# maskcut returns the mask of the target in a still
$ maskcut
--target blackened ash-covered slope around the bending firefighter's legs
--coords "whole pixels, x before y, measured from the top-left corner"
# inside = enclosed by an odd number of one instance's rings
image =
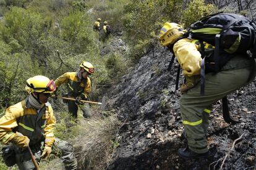
[[[228,96],[231,115],[241,123],[225,123],[221,103],[216,103],[208,131],[211,155],[207,159],[183,160],[177,155],[177,149],[185,147],[178,101],[181,94],[175,91],[177,63],[169,72],[170,60],[171,53],[155,47],[108,94],[109,107],[117,109],[124,123],[116,137],[120,145],[108,169],[219,169],[234,140],[243,133],[224,168],[254,169],[255,81]]]

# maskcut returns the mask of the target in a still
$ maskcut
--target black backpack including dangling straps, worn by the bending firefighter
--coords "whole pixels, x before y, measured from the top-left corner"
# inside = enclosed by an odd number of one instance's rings
[[[179,39],[182,38],[193,38],[200,42],[199,51],[203,59],[200,73],[202,86],[205,72],[220,71],[234,57],[233,54],[249,55],[256,59],[256,24],[242,15],[222,12],[208,15],[190,25],[187,32]],[[215,50],[210,54],[205,52],[203,42],[215,46]],[[171,69],[171,62],[168,70]],[[201,88],[201,94],[204,93],[203,89],[204,87]]]

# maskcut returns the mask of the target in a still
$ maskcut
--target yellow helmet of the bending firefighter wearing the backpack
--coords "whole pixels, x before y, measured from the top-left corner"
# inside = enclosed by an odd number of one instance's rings
[[[185,32],[186,30],[181,25],[174,22],[166,22],[161,28],[159,40],[163,46],[168,46],[169,44],[174,44]]]

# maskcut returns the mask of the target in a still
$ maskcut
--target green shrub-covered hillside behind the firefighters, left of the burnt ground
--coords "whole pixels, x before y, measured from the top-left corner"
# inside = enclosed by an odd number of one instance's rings
[[[91,99],[101,99],[127,68],[160,47],[158,33],[164,22],[187,28],[215,12],[217,7],[203,0],[0,0],[0,109],[24,99],[26,79],[56,79],[79,70],[83,60],[96,67]],[[92,28],[99,17],[113,29],[106,42]],[[117,35],[125,40],[128,52],[111,46]],[[103,49],[110,52],[102,55]],[[61,122],[57,127],[56,134],[61,134]]]

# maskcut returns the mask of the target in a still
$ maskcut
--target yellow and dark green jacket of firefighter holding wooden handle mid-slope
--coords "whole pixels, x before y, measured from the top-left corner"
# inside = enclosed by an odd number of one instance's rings
[[[70,97],[77,97],[83,95],[88,98],[91,92],[91,80],[87,77],[84,81],[80,81],[77,72],[67,72],[59,76],[55,81],[56,87],[61,86],[62,83],[67,83],[68,95]]]

